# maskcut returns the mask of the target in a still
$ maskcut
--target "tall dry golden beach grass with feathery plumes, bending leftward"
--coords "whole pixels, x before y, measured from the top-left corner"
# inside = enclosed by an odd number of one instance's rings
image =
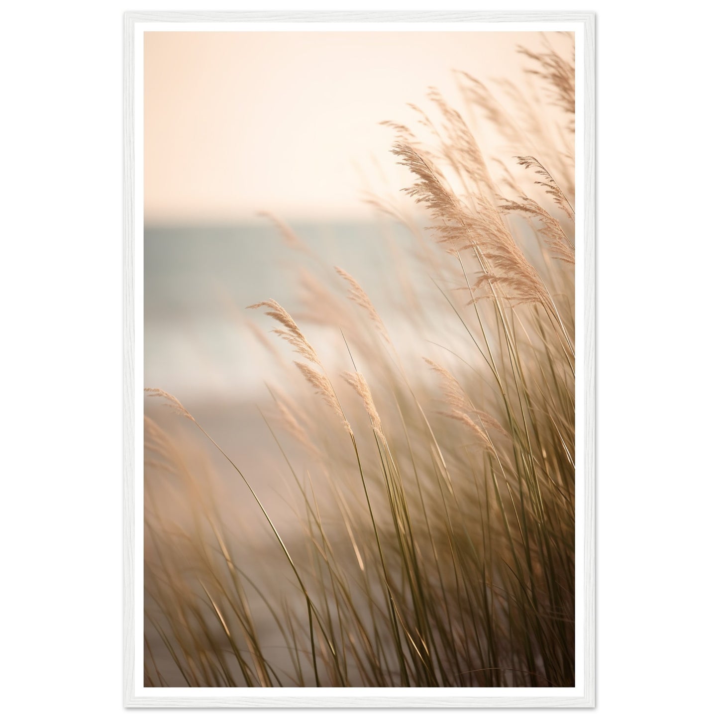
[[[306,360],[271,390],[267,420],[292,521],[275,523],[255,478],[216,447],[271,545],[227,522],[211,471],[198,480],[203,452],[147,422],[147,684],[574,685],[574,72],[549,47],[523,52],[536,93],[504,85],[500,101],[458,74],[508,145],[501,157],[436,90],[436,120],[416,108],[416,129],[388,123],[427,216],[426,232],[408,225],[433,284],[398,281],[424,352],[395,344],[339,268],[341,283],[331,268],[304,278],[306,306],[292,310],[306,328],[273,300],[252,306]],[[562,132],[539,121],[545,86]],[[308,339],[323,324],[344,371]],[[148,395],[206,435],[172,395]]]

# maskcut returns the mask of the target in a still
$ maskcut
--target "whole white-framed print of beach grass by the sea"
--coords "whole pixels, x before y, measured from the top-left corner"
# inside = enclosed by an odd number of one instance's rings
[[[593,706],[593,15],[125,52],[126,705]]]

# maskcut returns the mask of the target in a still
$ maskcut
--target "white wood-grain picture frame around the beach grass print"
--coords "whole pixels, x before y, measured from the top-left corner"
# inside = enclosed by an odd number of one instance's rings
[[[134,367],[134,258],[137,203],[135,197],[134,48],[138,23],[152,22],[532,22],[573,23],[583,27],[584,41],[584,248],[585,248],[585,485],[584,485],[584,576],[582,587],[585,623],[584,692],[581,696],[468,696],[447,689],[428,696],[396,695],[372,689],[356,689],[352,696],[320,694],[319,690],[286,690],[287,694],[193,696],[177,690],[173,696],[139,696],[135,687],[135,367]],[[595,20],[590,12],[127,12],[124,16],[124,705],[126,707],[593,707],[595,705]],[[577,137],[577,143],[580,138]],[[579,513],[582,508],[577,508]],[[237,690],[239,692],[239,690]]]

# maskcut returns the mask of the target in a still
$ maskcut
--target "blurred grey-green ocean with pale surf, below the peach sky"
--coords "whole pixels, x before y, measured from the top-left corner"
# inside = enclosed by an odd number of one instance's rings
[[[420,272],[413,259],[417,240],[405,226],[304,223],[292,229],[307,251],[289,247],[270,221],[145,228],[145,386],[183,401],[265,397],[267,351],[246,319],[267,333],[275,325],[262,311],[245,308],[273,298],[299,313],[301,268],[329,282],[336,280],[333,267],[342,267],[370,295],[385,324],[396,324],[398,278]],[[322,344],[319,334],[313,341]]]

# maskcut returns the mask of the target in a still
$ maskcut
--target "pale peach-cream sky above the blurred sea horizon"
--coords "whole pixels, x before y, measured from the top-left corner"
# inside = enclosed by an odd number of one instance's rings
[[[520,78],[518,32],[145,33],[145,221],[367,214],[362,188],[406,185],[382,120],[409,122],[452,69]]]

